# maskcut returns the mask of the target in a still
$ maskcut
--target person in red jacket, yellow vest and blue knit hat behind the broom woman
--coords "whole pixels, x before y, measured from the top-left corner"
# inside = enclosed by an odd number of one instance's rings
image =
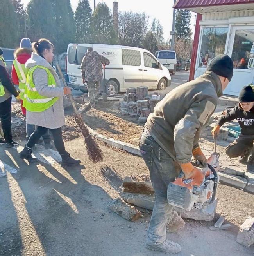
[[[23,100],[24,100],[24,94],[25,94],[25,84],[27,81],[27,73],[28,69],[25,67],[25,63],[27,60],[31,58],[32,54],[32,44],[29,38],[22,38],[20,41],[20,47],[16,49],[14,52],[14,58],[13,60],[13,67],[11,70],[11,78],[14,84],[18,85],[19,91],[20,91],[20,98],[21,98],[21,110],[22,114],[26,115],[25,107],[23,107]],[[26,138],[29,139],[31,134],[34,132],[34,125],[32,124],[26,124],[26,132],[27,136]],[[47,131],[43,136],[43,142],[45,144],[46,149],[50,149],[52,147],[50,143],[50,134]],[[40,139],[38,143],[41,143],[42,140]]]

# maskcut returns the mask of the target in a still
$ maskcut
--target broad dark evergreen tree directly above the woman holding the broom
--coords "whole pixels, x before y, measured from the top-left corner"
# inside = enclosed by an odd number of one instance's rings
[[[31,42],[47,38],[55,45],[57,27],[53,0],[31,0],[27,5],[27,15],[27,35]]]

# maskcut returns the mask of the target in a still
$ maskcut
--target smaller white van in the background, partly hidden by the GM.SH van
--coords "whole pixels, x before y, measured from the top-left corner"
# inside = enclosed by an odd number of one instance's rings
[[[164,51],[157,51],[155,53],[156,58],[159,62],[166,67],[170,73],[173,75],[176,71],[176,54],[175,51],[164,50]]]

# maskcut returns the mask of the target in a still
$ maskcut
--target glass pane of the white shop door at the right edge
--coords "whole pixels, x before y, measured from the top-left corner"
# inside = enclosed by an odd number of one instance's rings
[[[254,42],[254,30],[236,30],[232,60],[235,69],[248,69],[250,50]]]

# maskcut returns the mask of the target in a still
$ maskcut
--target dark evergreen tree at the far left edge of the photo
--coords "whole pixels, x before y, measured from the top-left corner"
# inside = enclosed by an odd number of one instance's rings
[[[16,48],[19,31],[18,18],[11,0],[1,0],[0,7],[0,45],[1,47]]]

